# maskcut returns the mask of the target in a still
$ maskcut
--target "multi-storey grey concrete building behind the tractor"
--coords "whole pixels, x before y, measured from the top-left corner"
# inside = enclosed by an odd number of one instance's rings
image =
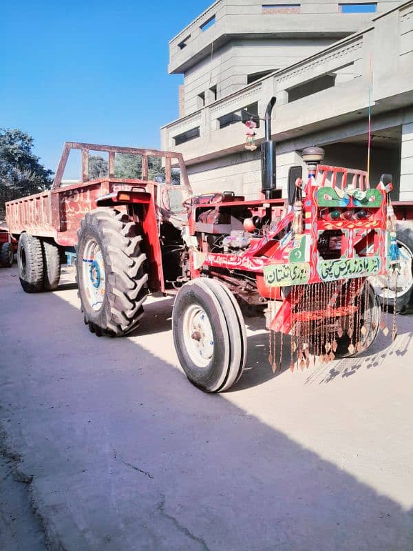
[[[392,172],[394,198],[413,200],[413,1],[218,0],[169,48],[184,84],[162,147],[183,154],[196,192],[257,194],[260,151],[246,151],[243,121],[260,123],[276,96],[278,187],[308,145],[326,164],[366,167],[370,102],[370,181]]]

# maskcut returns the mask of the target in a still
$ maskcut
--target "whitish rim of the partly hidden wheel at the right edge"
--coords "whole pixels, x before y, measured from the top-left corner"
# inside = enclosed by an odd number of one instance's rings
[[[412,253],[401,241],[397,241],[397,245],[399,246],[400,253],[400,272],[390,274],[390,278],[386,275],[374,275],[370,279],[374,291],[376,291],[377,295],[379,295],[382,300],[394,299],[396,293],[397,296],[401,297],[405,295],[413,285]]]

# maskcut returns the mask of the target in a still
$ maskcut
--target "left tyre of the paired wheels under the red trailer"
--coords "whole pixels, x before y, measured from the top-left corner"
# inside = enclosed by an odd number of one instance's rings
[[[43,254],[40,239],[21,233],[17,248],[21,287],[26,293],[43,291]]]

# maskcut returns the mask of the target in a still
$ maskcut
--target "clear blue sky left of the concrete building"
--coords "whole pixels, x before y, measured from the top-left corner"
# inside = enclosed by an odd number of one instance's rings
[[[31,134],[52,170],[65,141],[159,147],[182,83],[168,42],[211,3],[4,1],[0,127]]]

